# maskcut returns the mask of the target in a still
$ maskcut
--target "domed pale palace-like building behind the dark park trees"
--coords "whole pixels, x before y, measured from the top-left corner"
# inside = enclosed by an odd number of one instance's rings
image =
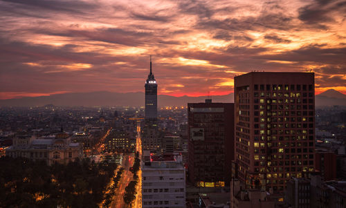
[[[67,164],[76,158],[83,158],[82,145],[72,143],[66,133],[59,133],[54,139],[37,139],[35,136],[17,136],[13,145],[6,149],[6,156],[44,160],[48,165]]]

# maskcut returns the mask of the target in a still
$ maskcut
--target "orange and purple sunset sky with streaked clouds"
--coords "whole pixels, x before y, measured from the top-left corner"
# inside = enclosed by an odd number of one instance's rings
[[[315,72],[346,93],[346,1],[0,0],[0,99],[226,95],[253,70]]]

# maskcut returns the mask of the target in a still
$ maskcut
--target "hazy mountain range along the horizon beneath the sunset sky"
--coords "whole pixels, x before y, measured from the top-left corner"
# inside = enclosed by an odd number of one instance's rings
[[[39,97],[21,97],[0,100],[0,106],[144,106],[144,93],[112,93],[107,91],[91,93],[64,93]],[[188,102],[204,102],[206,96],[174,97],[158,95],[158,106],[186,106]],[[233,93],[210,96],[212,102],[233,102]],[[346,95],[333,89],[316,95],[316,106],[346,106]]]

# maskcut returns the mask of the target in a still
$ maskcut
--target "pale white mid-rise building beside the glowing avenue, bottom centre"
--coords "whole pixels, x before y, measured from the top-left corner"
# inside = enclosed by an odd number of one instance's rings
[[[181,155],[143,153],[142,207],[185,207],[185,169]]]

